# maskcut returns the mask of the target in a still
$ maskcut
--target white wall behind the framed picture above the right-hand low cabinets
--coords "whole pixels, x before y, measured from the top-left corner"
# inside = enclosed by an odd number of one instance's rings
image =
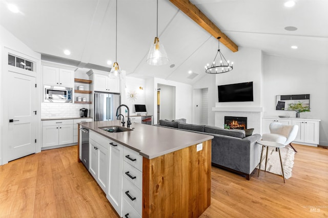
[[[311,112],[301,118],[321,119],[319,144],[328,146],[328,64],[270,55],[263,63],[263,115],[295,117],[295,111],[275,110],[276,95],[310,94]]]

